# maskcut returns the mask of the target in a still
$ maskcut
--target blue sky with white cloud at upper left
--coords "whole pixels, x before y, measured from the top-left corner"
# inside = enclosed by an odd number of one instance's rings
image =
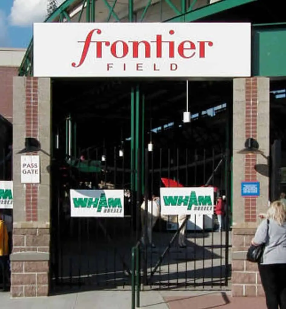
[[[46,8],[47,0],[0,0],[0,48],[28,47],[33,22],[45,19]]]

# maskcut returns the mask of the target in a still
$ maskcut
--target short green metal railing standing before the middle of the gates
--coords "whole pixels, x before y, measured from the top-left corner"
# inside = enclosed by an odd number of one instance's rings
[[[140,241],[132,248],[131,254],[131,309],[140,307]],[[135,307],[136,303],[136,307]]]

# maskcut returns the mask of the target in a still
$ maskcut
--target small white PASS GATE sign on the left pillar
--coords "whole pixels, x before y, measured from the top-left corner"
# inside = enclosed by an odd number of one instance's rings
[[[22,155],[21,156],[21,183],[39,184],[40,183],[40,156]]]

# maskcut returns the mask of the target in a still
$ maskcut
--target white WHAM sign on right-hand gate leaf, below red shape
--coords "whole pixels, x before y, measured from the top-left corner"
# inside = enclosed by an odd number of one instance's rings
[[[213,214],[213,188],[160,188],[164,215]]]

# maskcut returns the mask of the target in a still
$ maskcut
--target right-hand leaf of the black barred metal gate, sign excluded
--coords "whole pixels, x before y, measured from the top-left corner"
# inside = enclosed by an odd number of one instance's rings
[[[163,186],[161,179],[167,178],[184,187],[213,186],[215,197],[225,195],[227,202],[230,200],[228,151],[216,148],[146,150],[145,173],[145,199],[158,196]],[[159,289],[227,286],[231,211],[229,204],[226,205],[220,231],[216,215],[195,216],[192,222],[183,216],[168,216],[163,220],[162,216],[151,215],[155,222],[151,223],[154,228],[148,244],[146,225],[143,228],[146,239],[142,246],[143,283]],[[147,213],[145,207],[146,220]]]

